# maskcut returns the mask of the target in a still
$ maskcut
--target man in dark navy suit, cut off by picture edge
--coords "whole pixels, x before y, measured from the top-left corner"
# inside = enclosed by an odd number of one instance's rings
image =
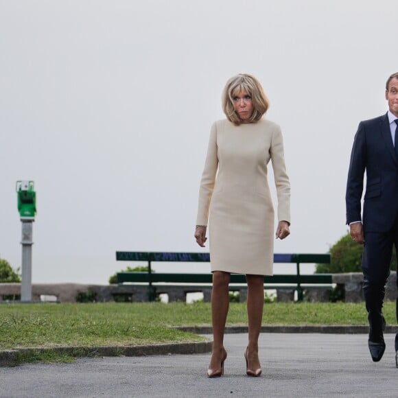
[[[393,246],[398,250],[398,73],[390,75],[386,82],[386,100],[386,115],[361,121],[358,126],[346,192],[351,237],[364,245],[362,286],[369,321],[368,347],[375,362],[382,359],[386,349],[382,307]],[[361,217],[365,170],[366,191]],[[398,367],[398,333],[395,353]]]

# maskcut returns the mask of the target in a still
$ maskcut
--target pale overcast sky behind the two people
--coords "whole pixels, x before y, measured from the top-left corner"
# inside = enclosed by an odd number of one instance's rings
[[[37,191],[33,282],[107,283],[128,265],[116,250],[203,250],[193,235],[210,127],[242,72],[263,84],[285,139],[292,226],[275,252],[327,252],[347,232],[356,128],[386,112],[398,71],[396,7],[0,0],[0,257],[21,265],[21,179]]]

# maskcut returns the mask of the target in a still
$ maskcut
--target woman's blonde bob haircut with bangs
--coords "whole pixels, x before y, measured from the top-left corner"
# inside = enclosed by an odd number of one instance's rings
[[[235,126],[239,126],[242,123],[233,108],[233,97],[240,91],[246,91],[250,95],[254,110],[248,122],[256,123],[266,113],[270,103],[260,82],[253,75],[239,73],[239,75],[233,76],[226,82],[222,92],[222,110],[224,110],[226,118]]]

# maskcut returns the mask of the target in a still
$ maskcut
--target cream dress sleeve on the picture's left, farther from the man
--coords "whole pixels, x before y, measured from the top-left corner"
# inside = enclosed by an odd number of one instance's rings
[[[206,161],[200,181],[198,216],[196,225],[207,225],[209,220],[209,207],[211,195],[215,185],[215,175],[218,169],[217,154],[217,128],[215,123],[211,126],[209,147],[207,148]]]

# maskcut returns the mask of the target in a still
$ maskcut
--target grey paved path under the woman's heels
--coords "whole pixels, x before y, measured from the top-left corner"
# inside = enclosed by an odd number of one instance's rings
[[[209,354],[80,359],[0,368],[0,397],[398,397],[394,335],[379,363],[364,334],[263,333],[261,377],[247,377],[246,334],[225,338],[225,375]]]

